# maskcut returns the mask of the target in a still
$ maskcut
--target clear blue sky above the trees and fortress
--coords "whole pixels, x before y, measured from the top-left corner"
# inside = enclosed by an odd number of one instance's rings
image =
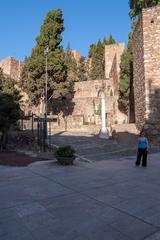
[[[110,33],[117,42],[127,43],[128,0],[5,0],[0,8],[0,59],[29,56],[46,13],[57,8],[63,11],[65,48],[70,43],[87,56],[89,45]]]

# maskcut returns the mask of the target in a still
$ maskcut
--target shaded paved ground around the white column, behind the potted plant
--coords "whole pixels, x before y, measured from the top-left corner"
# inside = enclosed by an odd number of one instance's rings
[[[112,139],[100,139],[97,135],[74,132],[58,132],[52,136],[50,141],[53,146],[73,146],[79,159],[87,162],[118,160],[137,154],[137,135],[126,132],[121,133],[117,142]],[[157,150],[159,151],[156,144],[152,144],[150,152],[155,153]]]

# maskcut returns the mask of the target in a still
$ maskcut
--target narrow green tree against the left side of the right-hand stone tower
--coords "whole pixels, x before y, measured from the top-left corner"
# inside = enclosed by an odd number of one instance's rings
[[[133,82],[133,53],[132,33],[129,33],[128,46],[121,56],[120,82],[119,82],[119,109],[128,114],[130,99],[130,84]]]

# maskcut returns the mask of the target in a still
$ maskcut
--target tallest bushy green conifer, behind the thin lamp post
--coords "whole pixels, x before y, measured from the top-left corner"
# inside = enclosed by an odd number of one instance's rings
[[[49,11],[36,38],[31,56],[25,59],[20,86],[32,103],[38,104],[44,96],[45,50],[48,52],[48,99],[63,96],[68,89],[65,53],[60,45],[64,30],[62,11]]]

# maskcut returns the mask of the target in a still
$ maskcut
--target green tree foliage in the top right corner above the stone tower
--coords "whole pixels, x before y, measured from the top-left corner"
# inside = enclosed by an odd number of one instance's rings
[[[158,4],[160,4],[160,0],[129,0],[130,17],[135,19],[143,8],[154,7]]]

